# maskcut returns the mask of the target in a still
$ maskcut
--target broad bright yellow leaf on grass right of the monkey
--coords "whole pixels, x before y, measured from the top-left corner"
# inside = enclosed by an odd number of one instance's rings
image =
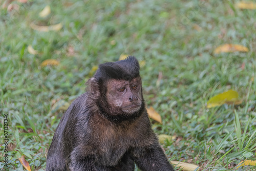
[[[210,98],[207,102],[207,108],[214,108],[222,104],[241,104],[242,100],[238,98],[238,92],[229,90]]]

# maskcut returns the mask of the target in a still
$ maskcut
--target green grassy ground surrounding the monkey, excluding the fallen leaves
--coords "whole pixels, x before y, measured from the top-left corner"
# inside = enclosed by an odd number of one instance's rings
[[[201,170],[234,170],[243,159],[255,159],[256,79],[251,78],[256,73],[256,10],[239,10],[236,2],[38,0],[12,2],[18,9],[11,11],[2,4],[1,139],[2,114],[8,114],[9,124],[5,169],[23,170],[17,157],[25,155],[32,170],[44,170],[64,112],[52,105],[82,94],[91,69],[122,53],[145,60],[144,97],[163,119],[163,124],[152,121],[153,129],[177,136],[163,144],[169,160],[197,164]],[[41,18],[38,13],[46,5],[52,12]],[[30,27],[60,22],[59,31]],[[214,49],[222,44],[240,44],[249,52],[216,55]],[[40,53],[28,53],[29,45]],[[49,58],[60,64],[41,67]],[[206,108],[210,97],[229,89],[238,91],[242,104]]]

